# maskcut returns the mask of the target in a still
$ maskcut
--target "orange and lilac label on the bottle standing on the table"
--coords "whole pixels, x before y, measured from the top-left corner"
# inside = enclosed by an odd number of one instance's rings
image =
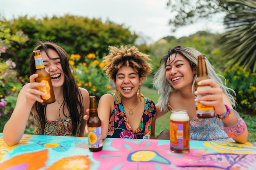
[[[100,127],[88,127],[88,145],[89,148],[100,148],[103,146],[101,126]]]

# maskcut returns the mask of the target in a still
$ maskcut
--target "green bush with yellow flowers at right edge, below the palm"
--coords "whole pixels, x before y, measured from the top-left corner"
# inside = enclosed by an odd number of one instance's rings
[[[239,63],[224,70],[227,86],[236,92],[236,102],[245,113],[256,113],[256,73],[244,69]]]

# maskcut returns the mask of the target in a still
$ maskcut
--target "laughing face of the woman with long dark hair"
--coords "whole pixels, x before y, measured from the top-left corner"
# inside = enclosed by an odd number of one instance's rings
[[[64,83],[64,74],[61,67],[61,58],[56,51],[52,49],[48,49],[47,51],[51,59],[49,59],[45,51],[41,51],[41,56],[45,64],[45,69],[49,72],[51,76],[52,86],[61,87]]]

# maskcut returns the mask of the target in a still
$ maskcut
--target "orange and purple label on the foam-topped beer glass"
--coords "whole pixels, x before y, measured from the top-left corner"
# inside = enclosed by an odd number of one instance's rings
[[[183,124],[170,123],[170,145],[174,148],[184,148]]]

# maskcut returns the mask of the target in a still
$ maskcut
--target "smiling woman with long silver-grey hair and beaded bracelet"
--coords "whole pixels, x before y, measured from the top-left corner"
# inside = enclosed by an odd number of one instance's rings
[[[176,46],[161,59],[159,69],[154,76],[154,86],[160,95],[156,105],[155,119],[172,109],[184,109],[190,118],[191,140],[245,143],[248,137],[247,127],[243,119],[233,109],[236,102],[230,94],[230,92],[234,94],[235,92],[223,85],[221,76],[216,74],[207,59],[207,72],[210,79],[199,83],[211,87],[194,91],[198,55],[201,53],[195,48]],[[223,76],[222,78],[225,80]],[[197,98],[196,96],[200,94],[210,95]],[[196,117],[195,102],[213,106],[216,117],[207,119]],[[155,129],[155,119],[152,123],[153,130]],[[169,139],[169,130],[160,133],[157,139]]]

